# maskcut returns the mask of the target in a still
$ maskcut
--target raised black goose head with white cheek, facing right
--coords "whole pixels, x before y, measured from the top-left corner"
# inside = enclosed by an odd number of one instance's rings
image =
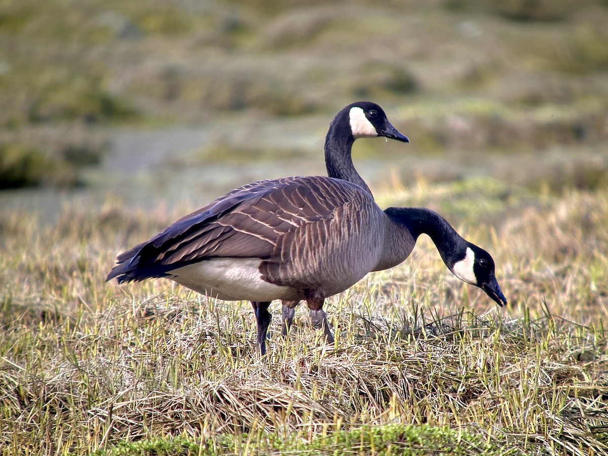
[[[389,122],[384,110],[371,102],[352,103],[344,108],[348,112],[351,134],[354,139],[384,136],[402,142],[410,142],[409,138]]]

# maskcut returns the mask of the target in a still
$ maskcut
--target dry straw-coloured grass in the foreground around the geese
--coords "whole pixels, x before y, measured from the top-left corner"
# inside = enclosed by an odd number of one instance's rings
[[[247,303],[103,283],[118,250],[177,215],[2,213],[2,456],[608,454],[605,190],[545,195],[499,231],[464,230],[494,255],[505,310],[421,240],[329,300],[336,345],[302,311],[283,340],[275,307],[266,359]],[[124,441],[139,446],[110,451]]]

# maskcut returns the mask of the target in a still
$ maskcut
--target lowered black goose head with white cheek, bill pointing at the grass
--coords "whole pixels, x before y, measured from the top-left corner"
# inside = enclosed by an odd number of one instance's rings
[[[460,280],[485,291],[499,306],[506,305],[505,295],[502,294],[496,275],[494,275],[494,260],[481,247],[466,243],[463,255],[460,255],[460,258],[451,267],[449,265],[448,267]]]

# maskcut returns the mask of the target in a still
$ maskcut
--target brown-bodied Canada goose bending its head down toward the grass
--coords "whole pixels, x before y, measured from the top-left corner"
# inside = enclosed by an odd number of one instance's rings
[[[272,300],[305,299],[313,325],[333,340],[325,297],[401,263],[423,233],[458,278],[506,304],[492,257],[443,217],[421,208],[382,211],[359,185],[325,176],[238,188],[120,254],[106,281],[168,277],[218,299],[249,300],[264,354]]]

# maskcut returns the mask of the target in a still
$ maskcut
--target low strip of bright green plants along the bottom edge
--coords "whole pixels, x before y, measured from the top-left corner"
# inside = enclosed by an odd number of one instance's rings
[[[434,446],[429,448],[428,443]],[[276,435],[223,435],[218,438],[159,438],[119,444],[109,451],[98,451],[98,456],[128,455],[222,455],[222,454],[286,454],[286,455],[485,455],[519,454],[516,448],[505,446],[505,441],[488,441],[483,434],[440,426],[409,426],[388,424],[363,426],[353,430],[327,429],[311,437],[303,431],[281,438]]]

